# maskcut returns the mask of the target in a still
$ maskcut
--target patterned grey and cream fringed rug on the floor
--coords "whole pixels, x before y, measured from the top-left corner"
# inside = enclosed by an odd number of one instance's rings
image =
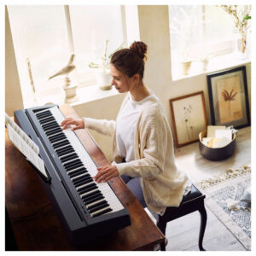
[[[244,201],[251,186],[250,166],[241,166],[195,183],[207,195],[206,205],[213,214],[251,250],[251,204]]]

